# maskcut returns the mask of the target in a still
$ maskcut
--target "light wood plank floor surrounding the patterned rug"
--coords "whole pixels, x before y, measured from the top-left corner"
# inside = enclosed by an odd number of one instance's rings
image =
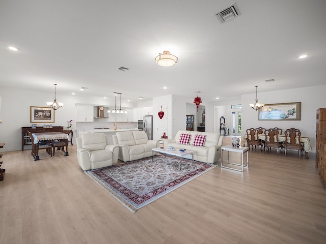
[[[69,157],[4,154],[0,243],[326,243],[315,159],[250,150],[249,169],[215,167],[130,212]],[[221,162],[218,162],[220,165]]]

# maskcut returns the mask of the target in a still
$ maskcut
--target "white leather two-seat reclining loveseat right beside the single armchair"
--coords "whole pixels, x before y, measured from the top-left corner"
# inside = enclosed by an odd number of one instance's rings
[[[158,140],[148,140],[145,131],[121,131],[112,136],[119,147],[118,158],[123,162],[152,156],[152,148],[159,147]]]

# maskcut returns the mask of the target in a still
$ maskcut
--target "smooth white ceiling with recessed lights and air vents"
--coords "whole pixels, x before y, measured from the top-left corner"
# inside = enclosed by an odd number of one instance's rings
[[[0,86],[209,102],[326,83],[326,1],[236,0],[241,15],[221,24],[215,14],[234,3],[2,0]],[[164,50],[176,65],[155,63]]]

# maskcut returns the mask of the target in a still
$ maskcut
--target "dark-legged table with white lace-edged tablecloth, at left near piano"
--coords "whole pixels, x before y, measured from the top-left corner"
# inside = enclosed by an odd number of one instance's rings
[[[68,142],[70,141],[70,136],[63,132],[38,132],[33,133],[34,136],[34,144],[35,144],[35,157],[34,160],[40,160],[39,158],[39,142],[40,141],[64,141],[66,151],[64,153],[64,156],[69,156],[68,154]]]

